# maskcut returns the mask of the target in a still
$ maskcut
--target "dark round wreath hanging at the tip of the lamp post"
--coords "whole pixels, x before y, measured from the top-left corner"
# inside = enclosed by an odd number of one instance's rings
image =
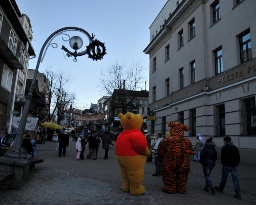
[[[93,60],[101,60],[103,56],[106,54],[105,43],[101,43],[99,40],[95,39],[92,41],[89,46],[87,46],[87,54],[89,58]]]

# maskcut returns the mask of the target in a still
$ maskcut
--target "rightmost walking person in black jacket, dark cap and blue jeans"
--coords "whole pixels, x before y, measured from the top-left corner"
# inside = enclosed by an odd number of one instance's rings
[[[225,136],[223,141],[225,145],[221,149],[221,163],[223,165],[222,178],[219,187],[215,187],[215,189],[218,192],[223,192],[226,185],[227,176],[230,172],[233,180],[234,191],[236,192],[234,197],[241,199],[240,185],[237,176],[238,165],[240,163],[239,150],[233,145],[233,142],[231,142],[231,138],[229,136]]]

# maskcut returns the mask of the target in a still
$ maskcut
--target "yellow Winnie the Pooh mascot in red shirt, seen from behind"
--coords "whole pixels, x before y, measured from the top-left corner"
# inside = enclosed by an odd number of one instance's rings
[[[122,190],[134,195],[145,193],[141,186],[144,175],[144,166],[147,155],[150,155],[145,136],[140,131],[143,118],[127,112],[119,114],[122,133],[118,136],[115,146],[115,154],[123,178]]]

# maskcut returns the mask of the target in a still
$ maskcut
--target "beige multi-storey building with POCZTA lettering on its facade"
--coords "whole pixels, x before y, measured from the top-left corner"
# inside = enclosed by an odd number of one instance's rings
[[[169,0],[150,26],[148,134],[168,121],[190,127],[184,136],[223,137],[241,163],[256,165],[256,1]]]

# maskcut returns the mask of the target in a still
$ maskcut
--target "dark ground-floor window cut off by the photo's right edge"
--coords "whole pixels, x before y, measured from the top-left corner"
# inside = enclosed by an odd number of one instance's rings
[[[256,134],[256,106],[255,97],[240,101],[241,135]]]

